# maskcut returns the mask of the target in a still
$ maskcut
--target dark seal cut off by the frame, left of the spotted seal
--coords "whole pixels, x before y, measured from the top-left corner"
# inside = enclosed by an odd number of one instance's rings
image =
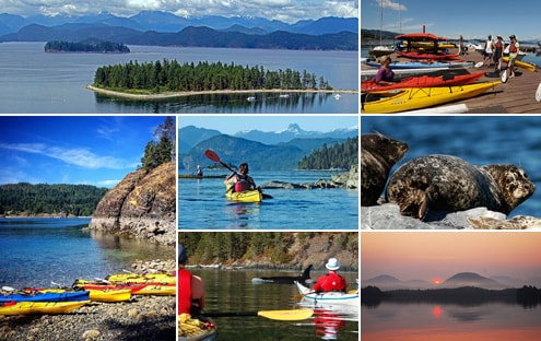
[[[392,166],[408,144],[380,133],[361,134],[361,205],[374,205],[381,196]]]

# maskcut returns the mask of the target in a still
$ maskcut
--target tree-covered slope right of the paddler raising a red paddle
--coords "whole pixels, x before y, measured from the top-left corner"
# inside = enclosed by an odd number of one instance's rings
[[[298,169],[350,169],[358,163],[358,137],[348,138],[343,143],[316,149],[310,155],[304,156],[298,163]]]

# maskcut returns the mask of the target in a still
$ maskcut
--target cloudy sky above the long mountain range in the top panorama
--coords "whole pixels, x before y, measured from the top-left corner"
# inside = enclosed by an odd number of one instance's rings
[[[294,23],[322,16],[357,17],[357,0],[0,0],[0,13],[23,16],[97,14],[131,16],[140,11],[164,11],[180,16],[260,16]]]

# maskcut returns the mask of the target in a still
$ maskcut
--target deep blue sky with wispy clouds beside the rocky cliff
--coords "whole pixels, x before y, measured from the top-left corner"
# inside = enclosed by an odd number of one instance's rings
[[[113,187],[136,170],[162,116],[2,116],[0,184]]]

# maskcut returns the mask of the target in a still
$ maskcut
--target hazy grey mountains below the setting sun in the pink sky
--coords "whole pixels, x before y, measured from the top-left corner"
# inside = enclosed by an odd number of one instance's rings
[[[377,286],[383,291],[389,290],[426,290],[426,289],[455,289],[463,286],[482,287],[489,290],[504,290],[508,287],[521,287],[522,285],[541,285],[539,279],[530,279],[527,282],[513,279],[510,277],[494,277],[485,278],[474,272],[459,272],[439,284],[434,284],[428,281],[413,280],[401,281],[392,275],[384,274],[373,279],[368,279],[363,282],[363,286]]]

